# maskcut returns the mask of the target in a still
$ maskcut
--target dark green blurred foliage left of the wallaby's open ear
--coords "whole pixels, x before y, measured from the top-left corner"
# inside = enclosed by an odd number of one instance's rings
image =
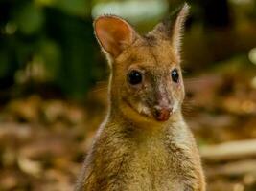
[[[42,64],[45,81],[83,96],[98,75],[88,0],[0,2],[0,80]],[[96,72],[96,73],[94,73]]]

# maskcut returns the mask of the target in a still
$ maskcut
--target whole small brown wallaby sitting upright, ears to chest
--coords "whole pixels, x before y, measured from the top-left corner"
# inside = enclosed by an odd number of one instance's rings
[[[181,105],[181,36],[189,7],[139,35],[104,15],[95,35],[111,68],[109,107],[83,166],[77,191],[204,191],[195,138]]]

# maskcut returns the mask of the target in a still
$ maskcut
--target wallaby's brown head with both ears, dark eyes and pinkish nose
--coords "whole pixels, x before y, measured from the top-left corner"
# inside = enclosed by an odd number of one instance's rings
[[[184,4],[171,21],[159,23],[146,35],[117,16],[95,20],[95,35],[111,68],[111,104],[124,117],[163,122],[180,112],[180,41],[188,11]]]

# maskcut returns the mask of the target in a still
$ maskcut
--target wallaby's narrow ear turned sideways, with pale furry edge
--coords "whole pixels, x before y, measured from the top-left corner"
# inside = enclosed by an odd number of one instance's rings
[[[153,32],[160,32],[164,38],[171,40],[172,46],[177,55],[180,53],[181,38],[188,13],[189,5],[185,3],[183,6],[179,7],[173,12],[171,18],[164,20],[153,30]]]

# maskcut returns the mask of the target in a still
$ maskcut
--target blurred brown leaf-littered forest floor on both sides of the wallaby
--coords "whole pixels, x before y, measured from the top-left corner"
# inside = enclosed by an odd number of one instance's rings
[[[183,113],[197,138],[209,191],[256,190],[254,68],[232,63],[185,80]],[[37,94],[2,104],[0,190],[72,190],[106,105],[105,83],[84,104]],[[224,142],[232,143],[216,147]]]

